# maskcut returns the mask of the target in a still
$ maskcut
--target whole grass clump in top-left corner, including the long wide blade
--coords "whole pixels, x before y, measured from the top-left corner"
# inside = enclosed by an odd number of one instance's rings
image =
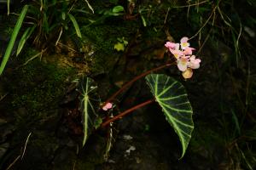
[[[20,54],[28,39],[32,39],[32,42],[40,51],[50,48],[50,45],[53,45],[52,42],[57,44],[61,38],[62,31],[68,29],[68,23],[70,21],[73,24],[73,28],[76,31],[77,36],[82,37],[78,21],[75,19],[74,15],[71,14],[75,11],[73,7],[75,3],[76,1],[61,1],[59,3],[56,3],[55,1],[35,1],[30,4],[30,8],[28,8],[28,5],[25,5],[20,13],[19,19],[17,20],[9,46],[4,54],[3,61],[0,66],[0,75],[3,73],[3,69],[9,60],[9,56],[15,44],[15,39],[18,36],[22,22],[25,19],[25,15],[28,15],[29,18],[32,19],[30,22],[32,26],[26,28],[26,31],[23,33],[16,55]],[[66,18],[67,15],[69,16],[69,20]],[[56,35],[59,36],[56,37]]]

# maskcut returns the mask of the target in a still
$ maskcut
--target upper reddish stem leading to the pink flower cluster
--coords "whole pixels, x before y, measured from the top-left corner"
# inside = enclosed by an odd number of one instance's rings
[[[110,98],[107,99],[107,101],[102,105],[102,107],[106,104],[108,104],[109,102],[111,102],[118,94],[120,94],[121,92],[123,92],[125,90],[125,88],[129,87],[133,82],[136,82],[137,80],[141,79],[142,77],[145,77],[147,76],[148,74],[150,74],[151,72],[153,71],[159,71],[163,68],[166,68],[168,66],[171,66],[173,65],[175,62],[172,62],[172,63],[168,63],[166,65],[160,65],[159,67],[156,67],[154,69],[151,69],[149,71],[146,71],[146,72],[143,72],[143,74],[133,78],[130,82],[126,82],[125,85],[120,88],[116,93],[114,93]]]

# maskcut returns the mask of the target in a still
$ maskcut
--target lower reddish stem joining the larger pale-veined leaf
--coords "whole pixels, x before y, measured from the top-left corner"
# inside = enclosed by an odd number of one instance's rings
[[[120,113],[117,116],[113,116],[113,118],[108,119],[108,121],[102,123],[102,127],[106,127],[109,123],[116,121],[117,119],[127,115],[128,113],[131,113],[131,111],[135,111],[140,107],[143,107],[144,105],[148,105],[154,102],[154,99],[149,99],[148,101],[143,102],[142,104],[135,105],[134,107],[131,107],[130,109]]]

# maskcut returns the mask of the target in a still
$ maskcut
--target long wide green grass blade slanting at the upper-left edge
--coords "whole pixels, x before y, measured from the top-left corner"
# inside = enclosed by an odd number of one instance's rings
[[[4,54],[4,56],[3,56],[3,61],[2,61],[2,63],[1,63],[1,65],[0,65],[0,75],[2,75],[3,69],[4,69],[4,67],[5,67],[5,65],[6,65],[6,63],[7,63],[7,61],[9,60],[9,56],[10,56],[10,54],[11,54],[11,52],[12,52],[12,49],[14,48],[15,40],[16,40],[16,37],[18,36],[18,33],[19,33],[19,31],[20,31],[20,27],[21,27],[21,25],[22,25],[22,23],[23,23],[23,20],[24,20],[25,16],[26,16],[26,11],[27,11],[27,9],[28,9],[28,5],[25,5],[25,6],[22,8],[22,11],[21,11],[21,13],[20,13],[20,16],[19,16],[19,18],[18,18],[18,20],[17,20],[17,22],[16,22],[15,29],[14,29],[12,35],[11,35],[9,44],[8,44],[7,49],[6,49],[6,51],[5,51],[5,54]]]

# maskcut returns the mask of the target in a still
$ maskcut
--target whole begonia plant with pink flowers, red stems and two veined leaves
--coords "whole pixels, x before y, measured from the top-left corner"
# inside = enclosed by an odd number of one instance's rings
[[[83,112],[83,146],[89,138],[92,128],[108,127],[113,121],[123,118],[132,111],[135,111],[144,105],[156,102],[160,105],[164,116],[166,116],[166,121],[169,122],[179,137],[182,144],[182,158],[188,148],[189,140],[191,139],[191,134],[194,129],[194,122],[192,119],[193,111],[189,99],[187,98],[188,94],[182,83],[177,82],[172,77],[164,74],[153,74],[152,72],[159,71],[160,69],[172,65],[177,65],[178,70],[182,71],[182,76],[185,79],[191,78],[193,70],[200,67],[201,59],[196,59],[195,55],[193,55],[195,48],[191,48],[188,41],[188,37],[183,37],[180,40],[180,43],[166,42],[165,46],[168,49],[167,51],[173,54],[173,57],[175,58],[174,62],[161,65],[135,77],[130,82],[125,83],[122,88],[103,103],[94,102],[94,100],[92,100],[96,99],[95,96],[99,96],[96,91],[96,82],[89,77],[83,77],[78,88],[80,94],[82,94],[80,110]],[[128,88],[133,82],[136,82],[143,77],[146,77],[146,82],[154,98],[148,99],[142,104],[135,105],[126,111],[122,111],[118,115],[113,115],[113,105],[118,105],[115,98],[121,94],[125,88]],[[95,105],[95,103],[97,104]],[[106,115],[100,116],[98,112],[101,111],[106,111]],[[102,122],[101,126],[98,126],[99,119],[101,120],[100,122]]]

